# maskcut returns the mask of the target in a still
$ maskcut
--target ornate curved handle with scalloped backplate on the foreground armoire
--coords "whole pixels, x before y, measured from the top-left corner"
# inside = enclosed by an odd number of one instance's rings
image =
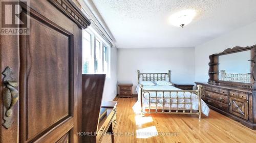
[[[2,73],[4,76],[3,83],[3,110],[4,110],[4,123],[3,126],[9,129],[12,125],[12,108],[18,101],[18,91],[15,87],[18,87],[18,82],[13,80],[12,71],[10,67],[6,67],[4,72]]]

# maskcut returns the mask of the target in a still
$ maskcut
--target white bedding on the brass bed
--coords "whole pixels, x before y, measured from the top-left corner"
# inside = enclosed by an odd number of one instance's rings
[[[162,90],[180,90],[182,91],[181,89],[178,89],[178,88],[175,88],[173,86],[161,86],[161,85],[155,85],[155,86],[143,86],[144,90],[159,90],[159,91],[162,91]],[[140,87],[139,85],[137,86],[136,88],[136,91],[138,93],[138,101],[140,103],[140,98],[141,98],[141,92],[140,92]],[[156,97],[156,92],[150,92],[150,95],[151,97]],[[181,98],[183,96],[185,97],[189,97],[190,98],[190,95],[191,93],[190,92],[185,92],[185,95],[183,95],[183,92],[178,92],[178,97]],[[169,94],[169,92],[164,92],[164,97],[177,97],[176,95],[176,92],[172,92],[171,95]],[[144,97],[142,100],[143,100],[143,109],[145,108],[148,108],[149,107],[149,94],[148,93],[145,93],[144,94]],[[163,93],[162,92],[158,92],[157,93],[157,97],[163,97]],[[198,110],[198,97],[196,94],[192,94],[191,95],[192,97],[192,108],[194,110]],[[158,99],[158,104],[157,104],[157,107],[162,109],[161,107],[163,107],[163,99]],[[151,98],[151,102],[156,102],[156,98]],[[170,102],[170,99],[164,99],[164,102]],[[175,103],[176,102],[176,99],[172,99],[172,102]],[[188,103],[190,102],[190,99],[178,99],[178,102],[180,103]],[[137,105],[139,104],[137,103]],[[208,116],[209,115],[209,107],[205,104],[205,102],[201,99],[201,107],[202,107],[202,113],[204,113],[204,115]],[[156,107],[156,104],[151,104],[151,108],[155,108]],[[164,108],[169,108],[169,104],[164,104]],[[177,104],[172,104],[172,107],[173,109],[176,109],[177,108]],[[183,108],[183,104],[178,104],[178,108]],[[190,109],[190,104],[185,104],[185,108],[186,109]]]

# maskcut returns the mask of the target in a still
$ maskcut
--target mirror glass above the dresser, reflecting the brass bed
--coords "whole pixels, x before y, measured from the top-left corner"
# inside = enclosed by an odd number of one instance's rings
[[[219,55],[219,80],[250,83],[250,50]]]

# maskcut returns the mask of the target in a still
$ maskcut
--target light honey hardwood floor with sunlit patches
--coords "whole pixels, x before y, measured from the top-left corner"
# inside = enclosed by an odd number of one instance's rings
[[[199,120],[193,115],[151,115],[134,113],[137,98],[116,98],[115,142],[256,142],[256,130],[237,124],[210,110]],[[158,133],[158,135],[156,135]],[[110,141],[110,138],[108,139]]]

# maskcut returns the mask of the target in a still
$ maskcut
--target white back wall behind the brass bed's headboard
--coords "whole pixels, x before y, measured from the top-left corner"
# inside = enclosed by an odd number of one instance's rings
[[[137,70],[140,72],[172,71],[174,83],[195,81],[195,48],[130,48],[118,49],[118,83],[137,85]]]

